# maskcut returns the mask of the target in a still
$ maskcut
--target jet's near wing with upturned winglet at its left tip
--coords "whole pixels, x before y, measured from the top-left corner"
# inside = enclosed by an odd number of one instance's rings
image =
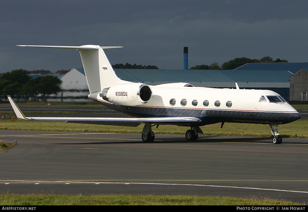
[[[155,118],[86,118],[86,117],[25,117],[10,96],[7,96],[18,119],[36,121],[66,121],[79,124],[103,124],[136,127],[142,123],[186,125],[196,124],[201,120],[195,117],[155,117]]]

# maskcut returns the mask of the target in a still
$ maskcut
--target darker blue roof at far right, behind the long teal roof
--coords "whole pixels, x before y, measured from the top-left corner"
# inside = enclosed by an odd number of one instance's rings
[[[308,63],[247,63],[234,70],[286,70],[293,74],[308,68]]]

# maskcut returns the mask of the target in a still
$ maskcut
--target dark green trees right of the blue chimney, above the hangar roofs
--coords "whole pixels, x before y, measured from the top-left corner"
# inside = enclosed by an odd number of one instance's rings
[[[250,59],[247,57],[235,58],[223,63],[221,66],[218,63],[212,63],[211,65],[197,65],[190,69],[203,69],[203,70],[230,70],[245,65],[246,63],[287,63],[287,60],[276,59],[273,60],[270,56],[262,57],[261,59]]]

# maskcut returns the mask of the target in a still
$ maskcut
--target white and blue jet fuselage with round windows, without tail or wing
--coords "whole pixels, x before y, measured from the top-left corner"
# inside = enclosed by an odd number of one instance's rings
[[[301,115],[276,92],[202,87],[151,86],[152,98],[137,106],[112,104],[97,93],[89,98],[120,112],[136,117],[188,117],[201,120],[198,126],[218,122],[286,124]],[[128,98],[116,95],[114,98]],[[275,97],[280,102],[270,101]],[[270,98],[270,99],[269,99]]]

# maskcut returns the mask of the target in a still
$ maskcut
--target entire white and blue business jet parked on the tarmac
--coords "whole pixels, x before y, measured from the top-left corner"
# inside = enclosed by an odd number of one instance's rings
[[[269,90],[194,87],[188,83],[150,86],[121,80],[111,67],[104,49],[122,47],[26,46],[77,49],[80,51],[90,94],[100,104],[136,118],[25,117],[8,96],[19,119],[55,120],[69,123],[138,126],[145,124],[143,141],[154,141],[152,127],[161,124],[187,126],[187,140],[197,140],[200,126],[221,122],[269,124],[273,143],[280,144],[278,124],[298,120],[301,115],[278,93]]]

